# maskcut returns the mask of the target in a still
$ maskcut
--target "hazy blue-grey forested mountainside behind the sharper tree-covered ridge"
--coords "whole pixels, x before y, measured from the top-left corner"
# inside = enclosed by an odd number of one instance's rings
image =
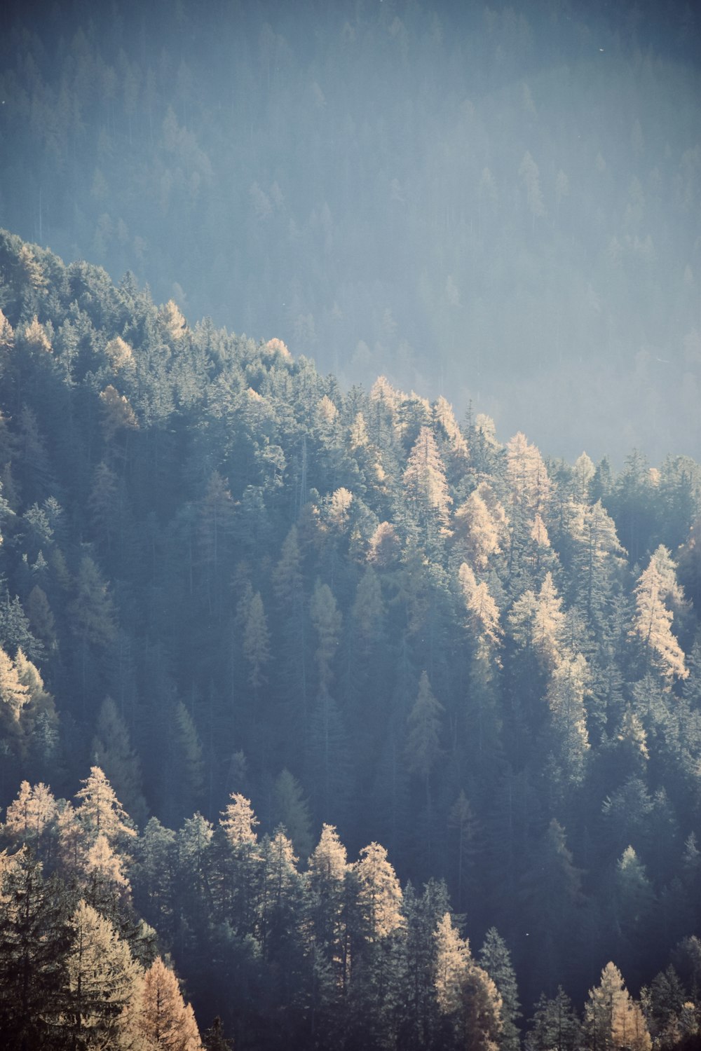
[[[0,224],[551,455],[699,451],[693,5],[11,4]]]

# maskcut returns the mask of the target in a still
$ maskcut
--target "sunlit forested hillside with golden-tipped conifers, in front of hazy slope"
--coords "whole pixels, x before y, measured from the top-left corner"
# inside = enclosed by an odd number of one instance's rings
[[[18,953],[46,1039],[87,1017],[84,928],[124,1040],[170,953],[238,1049],[693,1046],[699,466],[545,460],[7,232],[0,308],[5,1031]]]

